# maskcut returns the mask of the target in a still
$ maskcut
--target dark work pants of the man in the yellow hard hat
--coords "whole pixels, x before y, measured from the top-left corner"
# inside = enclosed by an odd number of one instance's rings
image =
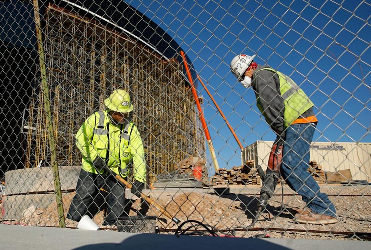
[[[76,194],[68,210],[67,219],[80,221],[104,184],[104,188],[108,189],[108,208],[103,225],[115,224],[117,218],[124,215],[125,186],[111,175],[94,174],[83,169],[80,171]]]

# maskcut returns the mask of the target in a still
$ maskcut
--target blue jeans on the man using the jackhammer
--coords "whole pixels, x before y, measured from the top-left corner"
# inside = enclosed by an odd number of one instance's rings
[[[319,192],[319,186],[308,173],[309,145],[312,142],[315,125],[312,123],[292,124],[286,130],[283,144],[281,174],[291,189],[302,196],[313,213],[336,217],[334,204],[328,196]]]

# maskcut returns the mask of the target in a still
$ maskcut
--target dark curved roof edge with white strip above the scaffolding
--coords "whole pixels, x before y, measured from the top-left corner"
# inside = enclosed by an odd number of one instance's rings
[[[55,0],[50,3],[66,7],[81,16],[96,20],[116,31],[124,32],[127,36],[141,41],[166,60],[175,58],[179,62],[183,61],[180,55],[182,50],[180,45],[158,24],[123,0],[99,1],[99,3],[91,0]],[[186,60],[197,88],[196,71],[187,55]],[[188,82],[185,67],[183,67],[183,74]]]

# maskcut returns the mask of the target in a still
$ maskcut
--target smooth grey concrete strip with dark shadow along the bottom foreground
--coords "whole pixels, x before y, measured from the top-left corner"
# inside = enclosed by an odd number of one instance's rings
[[[0,225],[1,249],[140,249],[140,250],[349,250],[370,249],[370,242],[295,239],[246,239],[88,231]]]

